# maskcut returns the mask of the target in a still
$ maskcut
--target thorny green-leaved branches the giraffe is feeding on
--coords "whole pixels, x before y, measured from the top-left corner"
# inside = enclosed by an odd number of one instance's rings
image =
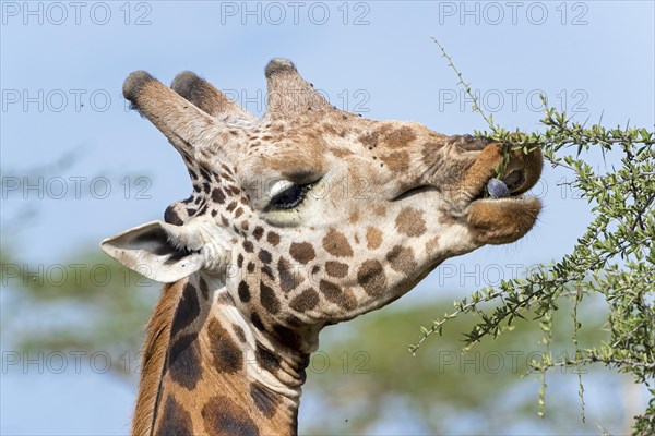
[[[439,44],[439,43],[437,43]],[[443,51],[461,84],[475,101],[471,87]],[[505,150],[521,148],[528,153],[539,147],[552,166],[573,172],[571,185],[593,205],[594,215],[586,231],[573,247],[551,265],[540,265],[525,278],[503,280],[497,287],[474,292],[455,302],[455,311],[436,319],[416,344],[416,353],[432,334],[442,332],[445,324],[463,314],[472,314],[477,322],[465,335],[472,346],[505,332],[516,318],[526,313],[539,323],[544,351],[535,359],[532,370],[541,374],[539,395],[540,414],[544,414],[546,375],[555,367],[579,368],[590,364],[604,364],[632,375],[634,382],[647,386],[653,396],[644,414],[635,416],[634,435],[655,434],[655,133],[643,128],[617,126],[607,129],[599,124],[585,125],[545,104],[546,126],[543,133],[509,132],[493,124],[479,105],[474,110],[483,114],[489,131],[476,132],[504,144]],[[573,153],[571,153],[573,149]],[[603,156],[620,153],[620,166],[605,171],[594,170],[583,156],[600,149]],[[497,172],[502,175],[504,168]],[[579,307],[591,295],[602,295],[607,312],[605,328],[609,339],[582,348],[579,332],[583,328],[577,317]],[[550,350],[552,315],[563,299],[571,300],[571,341],[574,352],[553,359]],[[486,303],[497,305],[487,308]],[[580,398],[584,420],[584,388],[580,377]]]

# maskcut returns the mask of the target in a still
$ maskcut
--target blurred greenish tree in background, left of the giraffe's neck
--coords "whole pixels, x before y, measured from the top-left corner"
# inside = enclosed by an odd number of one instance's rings
[[[160,286],[98,251],[48,267],[2,247],[2,332],[20,351],[104,352],[114,373],[138,380],[136,352]],[[7,307],[11,307],[7,311]],[[129,360],[129,361],[128,361]]]

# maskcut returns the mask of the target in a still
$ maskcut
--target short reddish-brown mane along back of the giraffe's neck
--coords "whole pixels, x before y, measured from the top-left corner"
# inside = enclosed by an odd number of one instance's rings
[[[144,436],[153,433],[162,374],[170,343],[170,326],[184,280],[187,279],[164,286],[159,301],[145,328],[145,339],[141,349],[141,383],[132,419],[132,435]]]

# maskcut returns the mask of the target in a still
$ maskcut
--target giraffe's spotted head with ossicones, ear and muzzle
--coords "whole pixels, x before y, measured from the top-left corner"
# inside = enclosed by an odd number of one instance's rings
[[[486,198],[499,144],[341,111],[286,60],[265,75],[261,119],[192,73],[171,88],[127,78],[126,98],[182,155],[193,194],[164,221],[105,240],[109,255],[157,281],[213,277],[261,335],[307,353],[324,325],[535,223],[540,203],[521,194],[540,175],[538,152],[513,153],[511,196]]]

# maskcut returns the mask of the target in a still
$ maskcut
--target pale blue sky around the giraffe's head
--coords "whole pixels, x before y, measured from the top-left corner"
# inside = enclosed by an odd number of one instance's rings
[[[484,129],[434,36],[480,92],[484,109],[509,129],[539,128],[540,92],[580,120],[603,116],[609,125],[629,120],[652,128],[655,119],[652,1],[57,4],[1,3],[2,238],[33,264],[61,262],[85,244],[160,218],[169,203],[190,193],[177,153],[126,109],[121,85],[134,70],[165,83],[194,71],[261,114],[263,68],[284,57],[333,104],[365,117],[419,121],[448,134]],[[72,167],[43,170],[66,153],[76,158]],[[600,159],[593,162],[602,168]],[[28,182],[40,187],[10,189],[27,170]],[[546,169],[537,185],[546,208],[525,239],[452,259],[450,269],[434,271],[403,302],[432,299],[440,289],[462,294],[485,279],[509,278],[515,265],[569,251],[590,214],[585,201],[557,184],[565,180],[565,171]],[[38,219],[5,227],[28,207],[39,210]],[[16,379],[3,386],[3,400],[23,389]],[[59,389],[25,383],[46,399]],[[126,396],[112,395],[118,402]],[[52,420],[64,432],[68,404],[34,401],[37,410],[61,408]],[[19,424],[20,411],[12,409],[8,423],[2,408],[3,433],[29,432]],[[120,433],[129,412],[90,421],[83,433]]]

